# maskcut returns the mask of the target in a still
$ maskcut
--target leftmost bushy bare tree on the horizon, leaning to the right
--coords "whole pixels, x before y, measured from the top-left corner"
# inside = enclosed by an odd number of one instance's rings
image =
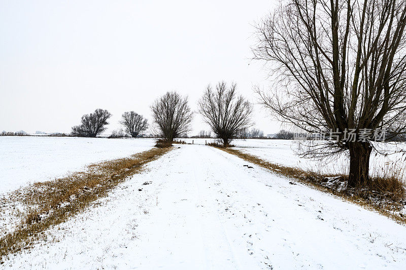
[[[108,110],[96,109],[93,113],[82,116],[82,124],[72,127],[72,135],[82,137],[96,137],[106,130],[107,120],[111,117]]]

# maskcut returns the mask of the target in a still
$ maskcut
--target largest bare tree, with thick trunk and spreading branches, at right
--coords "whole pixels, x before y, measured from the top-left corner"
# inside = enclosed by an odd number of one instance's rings
[[[301,130],[339,134],[323,149],[349,151],[349,186],[369,183],[364,131],[406,131],[405,26],[406,0],[288,0],[257,26],[254,58],[276,82],[256,89],[263,105]]]

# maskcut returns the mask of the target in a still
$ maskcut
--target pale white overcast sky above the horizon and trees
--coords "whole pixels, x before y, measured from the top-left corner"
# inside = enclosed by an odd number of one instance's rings
[[[207,84],[234,81],[256,102],[266,87],[252,62],[252,26],[275,1],[0,0],[0,131],[70,132],[85,113],[108,109],[150,120],[168,90],[192,109]],[[255,105],[255,127],[280,125]],[[208,129],[199,115],[193,134]],[[193,135],[191,134],[191,135]]]

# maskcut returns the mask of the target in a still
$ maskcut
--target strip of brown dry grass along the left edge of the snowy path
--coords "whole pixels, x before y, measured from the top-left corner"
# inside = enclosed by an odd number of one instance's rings
[[[0,238],[0,260],[28,249],[38,241],[46,241],[46,229],[83,212],[92,202],[107,196],[127,176],[140,172],[144,164],[171,149],[152,148],[129,158],[90,165],[84,172],[61,179],[35,183],[24,191],[15,191],[22,194],[28,211],[13,232]]]

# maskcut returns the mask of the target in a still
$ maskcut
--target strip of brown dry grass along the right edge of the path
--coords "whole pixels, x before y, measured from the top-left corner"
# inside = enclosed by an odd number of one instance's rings
[[[305,171],[300,168],[286,167],[264,161],[256,156],[244,153],[242,151],[218,147],[219,149],[235,155],[245,161],[259,165],[275,173],[295,178],[298,181],[312,186],[323,192],[341,197],[349,202],[353,202],[369,210],[375,210],[382,215],[392,218],[400,224],[406,224],[406,216],[399,213],[403,209],[402,201],[405,200],[405,184],[403,178],[399,178],[399,172],[386,174],[384,177],[373,177],[370,186],[359,189],[346,189],[337,191],[327,188],[320,183],[326,177],[344,177],[346,175],[320,174],[316,172]]]

